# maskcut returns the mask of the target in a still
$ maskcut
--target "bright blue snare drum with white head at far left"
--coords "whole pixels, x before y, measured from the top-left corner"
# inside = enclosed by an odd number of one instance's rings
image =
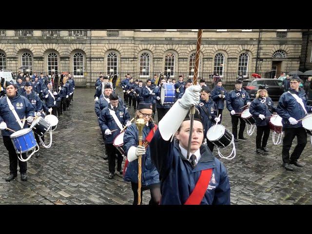
[[[18,154],[28,152],[38,146],[34,132],[31,128],[24,128],[16,131],[11,134],[10,138],[14,145],[15,151]]]

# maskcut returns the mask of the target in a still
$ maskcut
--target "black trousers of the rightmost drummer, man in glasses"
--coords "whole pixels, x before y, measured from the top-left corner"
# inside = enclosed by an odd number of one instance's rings
[[[307,144],[307,132],[301,128],[284,128],[285,136],[283,138],[282,158],[283,162],[297,161],[304,147]],[[289,150],[292,147],[292,140],[297,137],[297,145],[294,147],[292,155],[289,157]]]

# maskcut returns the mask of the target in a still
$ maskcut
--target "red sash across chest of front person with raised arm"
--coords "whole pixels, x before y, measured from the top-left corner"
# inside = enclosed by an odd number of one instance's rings
[[[200,204],[200,202],[202,201],[206,193],[212,173],[213,173],[212,168],[201,171],[199,179],[195,185],[195,188],[192,194],[187,199],[187,201],[184,203],[184,205],[199,205]]]

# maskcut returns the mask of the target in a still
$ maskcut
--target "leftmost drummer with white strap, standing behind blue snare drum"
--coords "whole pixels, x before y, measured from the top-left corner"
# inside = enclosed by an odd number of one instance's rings
[[[31,123],[34,120],[34,107],[27,98],[21,96],[17,92],[15,84],[8,81],[6,81],[5,84],[7,98],[0,99],[0,130],[3,138],[3,144],[9,152],[10,160],[10,175],[5,179],[5,181],[11,181],[17,176],[18,163],[20,166],[21,180],[27,180],[27,162],[22,162],[18,159],[14,145],[10,139],[12,132],[6,130],[6,128],[10,128],[14,131],[27,128],[27,122]],[[9,107],[10,105],[14,107],[12,110]],[[19,119],[26,117],[27,122],[17,121],[18,119],[16,119],[15,116]],[[22,158],[25,158],[26,153],[21,156]]]

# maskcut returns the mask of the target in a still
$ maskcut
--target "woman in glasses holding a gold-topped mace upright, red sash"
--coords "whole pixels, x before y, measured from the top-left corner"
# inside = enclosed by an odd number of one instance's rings
[[[123,149],[127,155],[129,164],[124,174],[124,180],[131,182],[134,195],[133,204],[137,205],[137,188],[138,188],[138,156],[142,156],[142,176],[141,176],[141,197],[144,190],[150,190],[151,200],[149,205],[157,205],[160,201],[160,182],[159,174],[151,160],[151,152],[148,139],[152,138],[157,126],[152,119],[153,104],[140,102],[137,106],[137,118],[142,115],[146,126],[143,128],[142,143],[144,146],[138,146],[138,130],[135,123],[129,126],[123,137]],[[142,203],[142,200],[141,200]]]

